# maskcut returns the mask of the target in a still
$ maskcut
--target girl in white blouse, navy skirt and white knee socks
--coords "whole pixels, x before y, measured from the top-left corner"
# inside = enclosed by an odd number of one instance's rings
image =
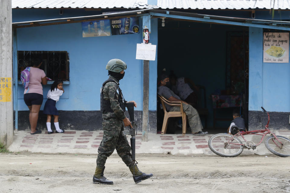
[[[50,87],[50,90],[47,93],[47,101],[44,105],[43,109],[43,114],[47,114],[47,121],[46,121],[46,126],[47,126],[47,133],[52,134],[53,131],[51,130],[50,127],[50,121],[51,121],[51,115],[54,117],[54,126],[56,128],[56,133],[64,133],[63,129],[60,129],[60,126],[58,124],[58,111],[55,107],[55,104],[57,101],[60,100],[60,96],[64,93],[63,90],[63,81],[62,80],[57,80],[54,81],[53,84]]]

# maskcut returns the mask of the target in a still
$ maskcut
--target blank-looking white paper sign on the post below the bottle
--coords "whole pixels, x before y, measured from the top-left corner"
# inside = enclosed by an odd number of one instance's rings
[[[156,45],[151,43],[137,43],[136,59],[138,60],[155,60]]]

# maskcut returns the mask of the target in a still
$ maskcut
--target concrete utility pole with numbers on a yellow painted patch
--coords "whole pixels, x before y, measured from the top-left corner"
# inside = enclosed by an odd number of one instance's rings
[[[13,142],[11,0],[0,0],[0,142]]]

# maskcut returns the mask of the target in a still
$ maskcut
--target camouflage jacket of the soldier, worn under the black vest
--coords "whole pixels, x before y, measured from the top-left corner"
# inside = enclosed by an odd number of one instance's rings
[[[104,99],[105,100],[110,100],[111,109],[114,112],[104,112],[103,113],[103,119],[119,118],[119,119],[123,120],[123,119],[126,118],[126,116],[124,115],[124,111],[121,109],[120,104],[118,102],[118,97],[119,97],[118,85],[119,85],[119,81],[116,78],[112,77],[112,76],[109,76],[109,78],[113,79],[115,82],[107,82],[104,85],[103,95],[104,95]]]

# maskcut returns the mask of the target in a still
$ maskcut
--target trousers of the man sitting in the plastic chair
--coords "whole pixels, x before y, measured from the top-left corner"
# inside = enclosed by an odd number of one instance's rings
[[[198,131],[202,131],[203,127],[197,110],[193,108],[191,105],[184,103],[182,103],[182,108],[188,118],[188,123],[191,132],[197,133]],[[180,111],[180,107],[174,106],[169,111]]]

